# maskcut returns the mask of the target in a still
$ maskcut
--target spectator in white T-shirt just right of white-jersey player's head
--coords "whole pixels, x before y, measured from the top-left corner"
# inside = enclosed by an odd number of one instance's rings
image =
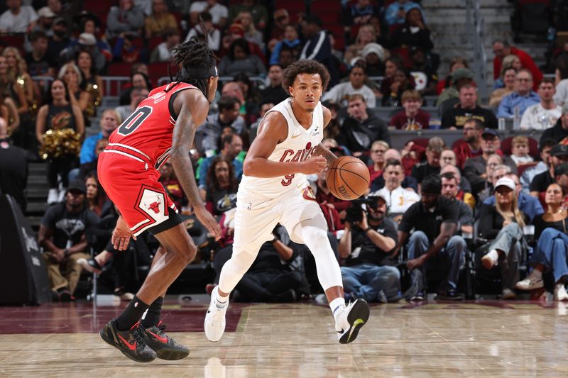
[[[369,108],[376,106],[376,97],[371,88],[365,83],[366,73],[363,67],[355,66],[349,72],[349,82],[339,83],[325,92],[322,101],[333,101],[341,106],[347,106],[354,94],[361,94]]]

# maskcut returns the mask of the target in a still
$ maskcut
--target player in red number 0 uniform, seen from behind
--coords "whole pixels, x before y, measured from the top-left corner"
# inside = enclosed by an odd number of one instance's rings
[[[221,229],[205,209],[195,183],[190,148],[217,91],[217,57],[194,37],[173,49],[180,67],[175,82],[150,92],[109,138],[99,156],[99,180],[121,216],[112,234],[118,250],[145,230],[160,242],[150,272],[123,313],[100,331],[104,341],[137,362],[179,360],[190,350],[165,335],[160,312],[165,291],[195,257],[197,248],[173,201],[158,182],[170,158],[195,215],[207,229]],[[142,319],[142,320],[141,320]]]

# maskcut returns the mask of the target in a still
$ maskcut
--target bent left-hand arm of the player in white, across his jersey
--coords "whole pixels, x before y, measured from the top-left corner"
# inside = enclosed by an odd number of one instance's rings
[[[288,174],[320,173],[325,168],[326,160],[321,156],[312,156],[303,162],[274,162],[268,157],[276,145],[288,137],[288,123],[277,111],[271,111],[258,126],[258,135],[251,144],[244,160],[243,172],[252,177],[281,177]]]

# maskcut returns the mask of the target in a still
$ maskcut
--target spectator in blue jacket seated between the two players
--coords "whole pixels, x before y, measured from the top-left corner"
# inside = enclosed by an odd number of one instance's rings
[[[224,160],[232,162],[232,174],[236,179],[236,182],[241,181],[241,177],[243,175],[243,163],[240,160],[237,160],[236,157],[239,153],[243,150],[243,140],[239,135],[234,133],[224,135],[221,140],[222,148],[219,150],[219,156],[223,157]],[[207,157],[201,162],[199,167],[199,188],[200,194],[202,196],[203,201],[207,198],[207,189],[209,188],[209,184],[207,183],[207,177],[209,172],[209,167],[213,164],[213,160],[215,159],[214,156]],[[214,170],[212,174],[214,174]],[[226,184],[226,182],[224,182]]]

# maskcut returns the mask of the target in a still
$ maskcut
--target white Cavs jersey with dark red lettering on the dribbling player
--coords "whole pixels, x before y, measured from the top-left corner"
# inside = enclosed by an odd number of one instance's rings
[[[273,162],[302,162],[314,153],[315,148],[323,139],[324,113],[322,103],[318,101],[312,116],[312,125],[307,130],[296,120],[292,111],[292,99],[285,99],[275,105],[271,111],[280,112],[288,122],[288,137],[276,145],[276,148],[268,157]],[[266,117],[266,115],[265,115]],[[302,173],[288,174],[281,177],[260,178],[243,174],[239,184],[239,192],[247,192],[275,198],[281,194],[307,186],[306,175]]]

